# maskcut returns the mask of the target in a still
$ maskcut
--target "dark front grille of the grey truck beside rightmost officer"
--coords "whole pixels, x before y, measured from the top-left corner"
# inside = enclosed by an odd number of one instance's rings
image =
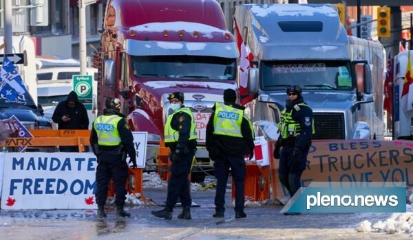
[[[340,112],[314,112],[313,139],[346,139],[344,114]]]

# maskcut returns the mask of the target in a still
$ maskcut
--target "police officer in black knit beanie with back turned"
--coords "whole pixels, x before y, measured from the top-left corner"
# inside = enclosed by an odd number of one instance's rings
[[[246,175],[244,156],[254,155],[253,128],[244,115],[244,107],[235,104],[237,95],[233,89],[224,91],[224,103],[215,103],[207,125],[207,149],[215,167],[217,187],[215,214],[224,217],[226,182],[229,168],[235,183],[235,217],[246,217],[244,213],[244,180]]]

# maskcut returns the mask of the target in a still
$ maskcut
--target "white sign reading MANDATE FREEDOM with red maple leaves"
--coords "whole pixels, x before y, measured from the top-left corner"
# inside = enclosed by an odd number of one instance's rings
[[[94,209],[92,153],[7,153],[1,209]]]

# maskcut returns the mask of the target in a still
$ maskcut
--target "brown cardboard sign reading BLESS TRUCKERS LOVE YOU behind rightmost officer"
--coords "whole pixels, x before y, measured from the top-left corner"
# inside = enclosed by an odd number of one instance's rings
[[[273,151],[273,142],[270,143]],[[271,154],[273,194],[288,195],[278,178],[279,160]],[[406,182],[413,186],[411,141],[313,141],[301,186],[310,182]]]

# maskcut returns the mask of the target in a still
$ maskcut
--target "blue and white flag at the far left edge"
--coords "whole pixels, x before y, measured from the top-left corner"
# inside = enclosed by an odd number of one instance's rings
[[[25,85],[21,80],[16,66],[7,57],[4,57],[3,67],[0,71],[0,95],[1,97],[14,101],[17,97],[27,93]]]

